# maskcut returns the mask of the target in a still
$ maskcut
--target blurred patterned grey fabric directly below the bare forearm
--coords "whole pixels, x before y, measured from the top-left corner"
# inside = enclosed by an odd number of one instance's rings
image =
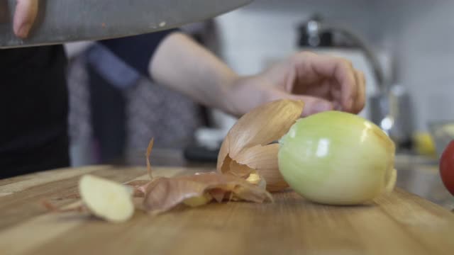
[[[140,79],[127,98],[129,151],[146,148],[151,137],[156,147],[183,148],[202,125],[196,103],[148,79]]]

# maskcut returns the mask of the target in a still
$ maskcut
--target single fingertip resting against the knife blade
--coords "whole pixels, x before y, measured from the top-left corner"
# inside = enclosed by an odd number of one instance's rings
[[[38,0],[17,0],[14,12],[13,30],[19,38],[26,38],[36,15],[38,14]]]

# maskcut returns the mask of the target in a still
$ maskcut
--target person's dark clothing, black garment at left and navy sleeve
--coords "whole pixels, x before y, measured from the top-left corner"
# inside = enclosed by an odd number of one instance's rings
[[[173,30],[104,40],[148,75],[148,63]],[[70,165],[68,96],[62,45],[0,50],[0,179]]]

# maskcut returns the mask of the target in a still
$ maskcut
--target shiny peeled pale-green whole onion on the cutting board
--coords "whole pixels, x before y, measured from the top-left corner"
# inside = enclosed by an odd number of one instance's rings
[[[361,204],[394,188],[394,143],[358,115],[326,111],[297,120],[279,145],[284,180],[314,202]]]

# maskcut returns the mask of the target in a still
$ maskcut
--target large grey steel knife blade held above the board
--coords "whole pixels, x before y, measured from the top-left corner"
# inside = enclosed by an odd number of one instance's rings
[[[0,0],[0,48],[101,40],[176,28],[252,0],[39,0],[28,38],[13,33],[16,0]]]

